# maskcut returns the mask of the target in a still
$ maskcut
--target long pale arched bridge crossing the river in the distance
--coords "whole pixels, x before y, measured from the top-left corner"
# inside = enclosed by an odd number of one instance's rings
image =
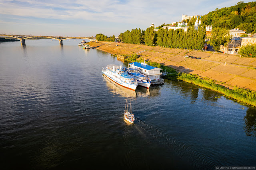
[[[21,45],[25,45],[25,40],[29,38],[51,38],[54,40],[58,40],[60,42],[60,45],[62,45],[63,40],[68,39],[86,39],[92,41],[92,37],[64,37],[64,36],[24,36],[24,35],[6,35],[6,34],[0,34],[2,37],[12,37],[15,39],[20,40]]]

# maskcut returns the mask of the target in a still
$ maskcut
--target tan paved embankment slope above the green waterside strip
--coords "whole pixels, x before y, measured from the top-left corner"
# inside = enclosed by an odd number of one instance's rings
[[[139,57],[145,58],[147,61],[158,62],[180,72],[216,80],[220,85],[230,89],[237,86],[256,91],[255,58],[127,43],[90,42],[88,44],[112,54],[138,53]],[[198,59],[186,58],[184,55],[194,56]]]

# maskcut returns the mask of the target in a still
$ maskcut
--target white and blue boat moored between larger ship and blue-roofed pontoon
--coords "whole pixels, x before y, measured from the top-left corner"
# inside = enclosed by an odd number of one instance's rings
[[[137,80],[138,85],[142,86],[142,87],[146,87],[149,88],[151,85],[151,80],[144,74],[140,73],[139,69],[135,69],[135,68],[125,68],[125,70],[127,71],[127,73],[129,75],[131,75],[132,77],[134,77],[134,79]]]

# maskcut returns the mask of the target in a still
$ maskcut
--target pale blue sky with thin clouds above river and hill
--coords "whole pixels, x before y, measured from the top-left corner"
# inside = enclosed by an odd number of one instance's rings
[[[118,36],[204,15],[241,0],[0,0],[0,34]],[[244,2],[250,2],[244,0]]]

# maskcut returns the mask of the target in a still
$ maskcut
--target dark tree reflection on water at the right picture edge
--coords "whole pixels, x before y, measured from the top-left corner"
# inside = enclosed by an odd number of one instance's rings
[[[248,107],[246,116],[244,117],[245,127],[244,131],[246,136],[256,137],[256,109]]]

